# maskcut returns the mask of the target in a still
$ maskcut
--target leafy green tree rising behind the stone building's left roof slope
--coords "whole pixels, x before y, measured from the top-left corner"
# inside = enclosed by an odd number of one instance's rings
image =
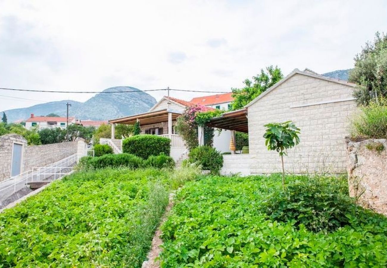
[[[257,98],[262,92],[266,91],[266,89],[283,79],[283,77],[284,75],[282,74],[281,69],[277,66],[273,67],[273,65],[270,65],[269,67],[266,67],[266,70],[261,69],[260,74],[253,76],[253,81],[249,79],[243,81],[243,84],[245,84],[244,88],[231,89],[231,91],[233,91],[232,97],[234,98],[232,109],[238,110],[245,107],[250,101]]]

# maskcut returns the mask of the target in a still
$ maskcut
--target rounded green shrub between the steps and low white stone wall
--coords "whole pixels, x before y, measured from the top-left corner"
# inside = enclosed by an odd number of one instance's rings
[[[197,163],[203,170],[210,170],[211,174],[219,174],[223,167],[223,156],[215,148],[204,145],[190,151],[188,154],[190,163]]]

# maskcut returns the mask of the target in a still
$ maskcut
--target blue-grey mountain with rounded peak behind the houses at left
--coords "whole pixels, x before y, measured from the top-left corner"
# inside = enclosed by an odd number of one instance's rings
[[[85,102],[74,100],[51,101],[27,108],[12,109],[4,111],[8,122],[16,120],[26,120],[31,113],[34,115],[48,115],[56,113],[60,116],[66,116],[66,103],[71,103],[69,115],[77,119],[108,120],[137,113],[147,112],[156,104],[156,99],[148,93],[139,91],[137,88],[128,86],[117,86],[105,89],[103,92],[118,93],[98,93]],[[134,91],[119,93],[122,91]]]

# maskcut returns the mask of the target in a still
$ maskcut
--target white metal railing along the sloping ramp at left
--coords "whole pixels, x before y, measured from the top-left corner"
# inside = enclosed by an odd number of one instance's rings
[[[0,199],[7,198],[14,192],[22,189],[28,182],[39,181],[42,179],[59,179],[72,172],[73,165],[77,163],[77,154],[70,155],[62,160],[47,165],[45,167],[34,167],[19,175],[10,177],[0,182]]]

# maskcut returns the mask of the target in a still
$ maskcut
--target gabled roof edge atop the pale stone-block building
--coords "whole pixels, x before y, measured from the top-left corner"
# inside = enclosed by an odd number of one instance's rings
[[[250,107],[251,105],[253,105],[254,103],[256,103],[258,100],[260,100],[261,98],[263,98],[264,96],[266,96],[267,94],[269,94],[271,91],[273,91],[274,89],[276,89],[277,87],[279,87],[281,84],[283,84],[283,83],[286,82],[289,78],[295,76],[296,74],[302,74],[302,75],[304,75],[304,76],[310,76],[310,77],[314,77],[314,78],[321,79],[321,80],[325,80],[325,81],[329,81],[329,82],[334,82],[334,83],[343,84],[343,85],[346,85],[346,86],[356,87],[356,84],[355,84],[355,83],[348,82],[348,81],[344,81],[344,80],[339,80],[339,79],[333,79],[333,78],[330,78],[330,77],[325,77],[325,76],[322,76],[322,75],[317,74],[316,72],[313,72],[312,70],[310,70],[310,69],[308,69],[308,68],[305,69],[305,71],[300,71],[300,70],[298,70],[298,69],[294,69],[293,72],[291,72],[291,73],[288,74],[286,77],[284,77],[283,79],[281,79],[280,81],[278,81],[276,84],[274,84],[273,86],[271,86],[271,88],[266,89],[266,91],[264,91],[262,94],[260,94],[257,98],[255,98],[254,100],[250,101],[250,103],[248,103],[248,104],[245,106],[245,108]]]

